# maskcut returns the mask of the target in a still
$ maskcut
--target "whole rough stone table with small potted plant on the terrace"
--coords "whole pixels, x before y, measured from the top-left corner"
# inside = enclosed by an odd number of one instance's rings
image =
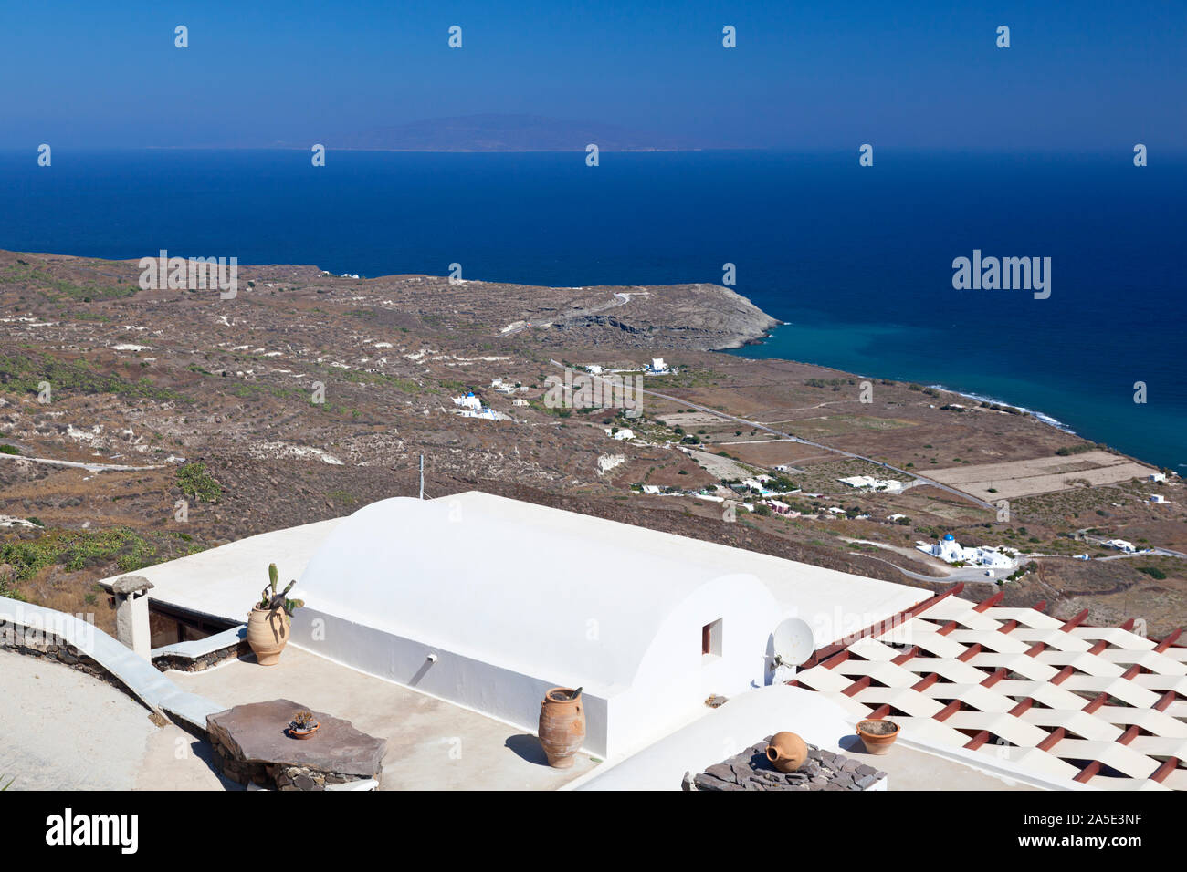
[[[324,790],[326,785],[379,781],[387,739],[316,711],[318,731],[307,739],[294,739],[287,733],[288,724],[305,708],[309,706],[292,700],[271,700],[207,715],[207,734],[222,760],[223,775],[240,784],[274,784],[280,790]]]

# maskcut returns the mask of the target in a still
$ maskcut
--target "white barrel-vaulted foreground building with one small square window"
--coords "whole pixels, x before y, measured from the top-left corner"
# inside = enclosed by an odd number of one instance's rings
[[[527,560],[507,547],[525,530]],[[925,598],[480,492],[360,509],[297,591],[293,644],[525,731],[548,688],[584,687],[586,749],[598,756],[702,717],[710,694],[766,685],[772,632],[788,615],[833,641]]]

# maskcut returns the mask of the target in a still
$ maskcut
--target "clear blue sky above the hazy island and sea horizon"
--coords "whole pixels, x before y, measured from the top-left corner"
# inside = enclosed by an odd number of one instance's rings
[[[957,6],[9,0],[0,147],[332,148],[480,113],[710,146],[1187,147],[1187,4]]]

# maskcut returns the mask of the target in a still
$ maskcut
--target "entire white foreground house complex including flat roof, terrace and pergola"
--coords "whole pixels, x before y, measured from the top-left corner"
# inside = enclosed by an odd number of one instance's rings
[[[301,579],[296,594],[307,604],[297,610],[292,644],[274,676],[250,657],[234,656],[250,591],[259,590],[271,561],[281,578]],[[891,784],[902,777],[904,788],[995,789],[1001,778],[1010,788],[1187,790],[1187,769],[1168,765],[1168,755],[1181,751],[1183,713],[1160,708],[1163,689],[1182,679],[1176,649],[1124,628],[999,605],[999,594],[980,603],[954,591],[928,597],[904,585],[474,492],[388,499],[139,572],[153,585],[146,598],[164,615],[230,626],[154,656],[192,662],[230,643],[230,658],[216,669],[161,674],[74,616],[2,597],[0,615],[18,628],[58,628],[148,709],[197,730],[230,701],[275,696],[275,681],[293,690],[296,677],[305,687],[297,692],[309,694],[297,698],[300,705],[387,739],[394,751],[383,778],[388,785],[394,778],[398,789],[675,790],[685,772],[786,728],[823,750],[857,756],[855,724],[890,706],[900,750],[878,766]],[[810,625],[806,645],[818,653],[827,645],[830,654],[795,673],[798,687],[775,683],[769,669],[772,630],[786,631],[783,622],[793,616]],[[937,632],[942,625],[958,629],[945,636]],[[1026,657],[1036,638],[1046,654]],[[838,650],[846,656],[831,656]],[[1067,673],[1058,667],[1068,661],[1074,677],[1061,685]],[[985,675],[1003,663],[1027,681],[986,687],[992,682]],[[1131,663],[1149,680],[1118,680]],[[18,728],[6,733],[7,744],[14,740],[18,756],[43,760],[55,778],[81,783],[69,736],[39,731],[50,694],[63,685],[45,674],[45,681],[12,685],[9,666],[0,669],[0,695],[14,687],[23,689],[9,693],[13,699],[33,695],[27,712],[17,707]],[[920,682],[932,673],[945,683]],[[576,776],[569,781],[529,759],[537,757],[529,734],[540,699],[560,685],[585,688],[586,755],[566,770]],[[1020,687],[1041,701],[1037,715],[1037,708],[1016,705]],[[729,701],[709,708],[710,694]],[[1093,715],[1085,705],[1100,694],[1119,694],[1119,702]],[[78,698],[81,711],[66,712],[66,726],[85,730],[113,709],[123,715],[114,702],[91,696]],[[959,717],[938,720],[950,699],[960,704]],[[1110,740],[1118,712],[1142,725],[1141,741]],[[142,711],[133,714],[144,723]],[[971,733],[1009,744],[970,749]],[[132,737],[129,764],[144,737]],[[477,763],[443,765],[445,745],[462,741],[466,759]],[[120,747],[132,751],[132,744]],[[1087,757],[1107,770],[1092,775]],[[205,769],[163,769],[170,760],[174,756],[144,755],[140,775],[170,785],[209,776]]]

